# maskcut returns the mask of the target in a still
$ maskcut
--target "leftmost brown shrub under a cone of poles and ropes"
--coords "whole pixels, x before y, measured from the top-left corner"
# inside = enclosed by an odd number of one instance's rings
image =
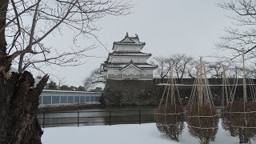
[[[172,77],[171,69],[161,102],[158,108],[154,110],[154,119],[160,132],[178,142],[178,137],[184,129],[184,112],[178,87],[174,86],[174,83],[176,82]],[[163,102],[164,98],[166,98],[165,102]]]

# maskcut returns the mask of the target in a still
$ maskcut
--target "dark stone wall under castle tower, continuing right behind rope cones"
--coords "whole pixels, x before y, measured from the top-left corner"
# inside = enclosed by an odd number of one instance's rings
[[[161,82],[161,79],[159,81]],[[230,84],[234,84],[234,79],[230,79],[229,81]],[[178,84],[193,85],[194,79],[176,79],[176,82]],[[156,83],[158,83],[158,80],[156,79],[122,81],[108,79],[106,82],[106,87],[102,93],[101,102],[106,104],[106,106],[158,106],[162,98],[162,93],[165,86],[158,86]],[[210,78],[209,83],[210,85],[220,85],[222,84],[222,79]],[[239,79],[238,83],[241,84],[242,79]],[[182,98],[183,104],[189,102],[192,87],[193,86],[178,86],[179,94]],[[215,105],[220,106],[222,102],[222,86],[210,86],[210,89],[214,97]],[[247,86],[247,95],[250,96],[249,86]],[[235,99],[242,100],[242,86],[237,86]]]

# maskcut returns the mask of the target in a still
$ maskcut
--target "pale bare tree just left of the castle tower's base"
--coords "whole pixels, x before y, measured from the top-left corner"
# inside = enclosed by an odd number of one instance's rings
[[[85,90],[93,89],[98,84],[105,84],[104,77],[100,72],[100,68],[93,70],[90,76],[84,80]]]

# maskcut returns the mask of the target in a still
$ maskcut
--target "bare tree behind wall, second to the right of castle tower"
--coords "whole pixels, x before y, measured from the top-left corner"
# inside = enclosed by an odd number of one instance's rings
[[[188,75],[186,66],[192,62],[193,58],[186,56],[186,54],[174,54],[170,58],[170,62],[174,66],[174,73],[177,78],[184,78]]]

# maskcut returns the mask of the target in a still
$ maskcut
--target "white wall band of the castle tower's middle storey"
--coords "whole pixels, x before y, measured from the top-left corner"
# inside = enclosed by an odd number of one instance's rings
[[[134,63],[146,63],[146,60],[147,58],[149,57],[118,57],[118,56],[110,56],[110,59],[111,59],[111,63],[129,63],[130,60],[132,59]]]

